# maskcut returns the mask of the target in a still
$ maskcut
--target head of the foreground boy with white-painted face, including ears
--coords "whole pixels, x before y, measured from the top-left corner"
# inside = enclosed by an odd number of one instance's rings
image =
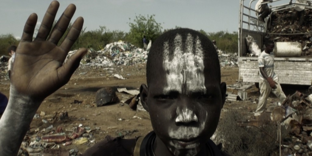
[[[157,144],[174,155],[195,155],[217,128],[225,101],[220,64],[212,42],[191,29],[175,29],[153,43],[140,88]]]

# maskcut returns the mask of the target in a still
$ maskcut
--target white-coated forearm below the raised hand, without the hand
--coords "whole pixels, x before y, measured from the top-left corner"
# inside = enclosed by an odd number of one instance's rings
[[[0,119],[1,156],[17,155],[40,103],[28,96],[18,95],[11,85],[9,102]]]

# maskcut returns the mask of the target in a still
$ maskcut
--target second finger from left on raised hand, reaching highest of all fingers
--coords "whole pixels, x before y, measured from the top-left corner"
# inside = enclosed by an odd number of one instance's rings
[[[60,6],[60,3],[57,1],[51,2],[50,6],[46,10],[46,14],[44,15],[40,28],[38,30],[38,34],[35,40],[45,41],[48,37],[51,27],[53,25],[57,10]]]

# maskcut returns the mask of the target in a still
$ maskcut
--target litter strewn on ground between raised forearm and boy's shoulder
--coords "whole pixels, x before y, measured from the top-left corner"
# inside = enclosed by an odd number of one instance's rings
[[[59,125],[54,127],[53,124],[56,122],[71,120],[68,113],[64,111],[57,112],[55,115],[46,115],[45,112],[41,112],[40,114],[36,114],[34,119],[41,119],[45,128],[37,128],[28,132],[22,142],[18,155],[39,156],[41,154],[52,153],[52,155],[74,156],[78,153],[77,149],[63,150],[61,146],[94,144],[95,138],[92,133],[100,130],[100,127],[84,127],[82,124],[71,124],[66,127]]]

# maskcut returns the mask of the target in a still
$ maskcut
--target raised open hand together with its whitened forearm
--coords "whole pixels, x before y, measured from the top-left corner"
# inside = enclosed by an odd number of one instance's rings
[[[17,155],[22,140],[42,100],[65,85],[87,50],[82,48],[63,63],[78,38],[83,18],[78,17],[60,46],[76,6],[71,4],[51,31],[59,2],[51,2],[32,41],[37,15],[31,14],[17,46],[11,72],[10,98],[0,119],[0,155]],[[51,32],[51,33],[50,33]]]

